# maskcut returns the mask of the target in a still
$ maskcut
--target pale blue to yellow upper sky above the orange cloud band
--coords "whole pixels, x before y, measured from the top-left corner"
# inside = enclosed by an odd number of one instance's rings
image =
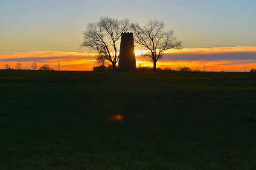
[[[255,0],[1,0],[0,53],[81,51],[82,31],[100,16],[163,20],[185,48],[256,46],[255,8]]]

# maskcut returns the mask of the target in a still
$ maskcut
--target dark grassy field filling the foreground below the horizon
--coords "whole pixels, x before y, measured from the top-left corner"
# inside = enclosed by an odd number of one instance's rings
[[[256,169],[256,74],[1,70],[0,95],[1,170]]]

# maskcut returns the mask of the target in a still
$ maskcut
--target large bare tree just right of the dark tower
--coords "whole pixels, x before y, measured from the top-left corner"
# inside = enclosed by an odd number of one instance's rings
[[[181,41],[174,37],[174,31],[164,31],[164,23],[159,20],[150,20],[145,26],[138,23],[131,24],[134,32],[134,42],[147,48],[150,52],[142,57],[150,57],[156,71],[157,60],[163,57],[163,52],[171,48],[181,48]]]

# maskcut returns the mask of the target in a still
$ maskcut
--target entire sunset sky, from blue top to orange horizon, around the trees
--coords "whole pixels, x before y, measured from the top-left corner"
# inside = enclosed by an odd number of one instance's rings
[[[61,70],[91,70],[95,56],[80,49],[82,32],[101,16],[141,25],[162,20],[173,29],[183,49],[167,52],[157,67],[256,68],[255,6],[255,0],[1,0],[0,69],[17,62],[31,68],[35,60],[57,69],[59,60]],[[139,55],[137,64],[152,66]]]

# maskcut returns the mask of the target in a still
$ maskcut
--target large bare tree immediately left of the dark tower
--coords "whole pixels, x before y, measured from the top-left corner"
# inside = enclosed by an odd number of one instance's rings
[[[117,46],[122,32],[128,31],[130,20],[117,20],[110,17],[100,17],[97,22],[90,22],[84,34],[81,48],[86,47],[99,54],[105,55],[116,70],[118,61]]]

